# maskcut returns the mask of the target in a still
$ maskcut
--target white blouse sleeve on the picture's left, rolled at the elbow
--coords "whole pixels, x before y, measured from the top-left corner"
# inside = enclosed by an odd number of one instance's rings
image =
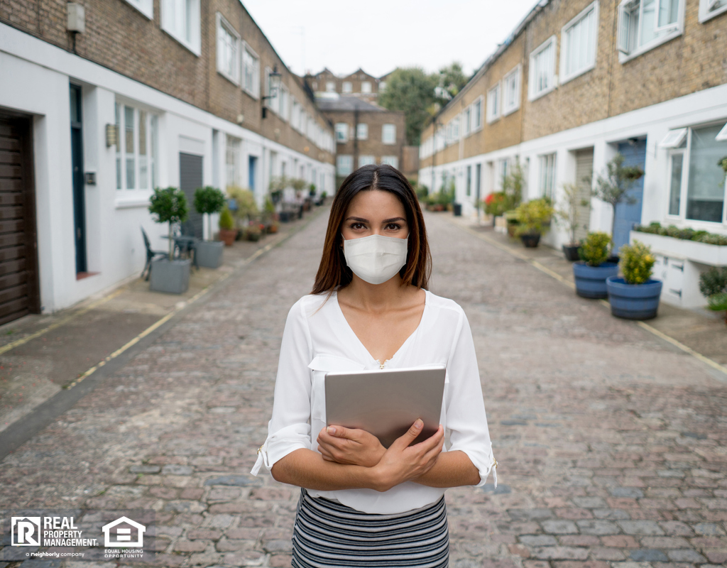
[[[268,438],[257,450],[252,475],[261,465],[270,468],[296,449],[310,449],[310,369],[312,359],[310,332],[303,301],[290,308],[285,323],[278,362],[273,417],[268,423]]]

